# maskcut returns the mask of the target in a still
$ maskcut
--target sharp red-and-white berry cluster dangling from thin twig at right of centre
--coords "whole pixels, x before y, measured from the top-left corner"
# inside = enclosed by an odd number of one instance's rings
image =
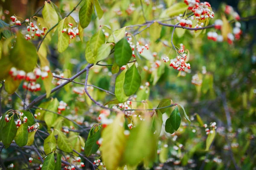
[[[180,44],[179,54],[175,59],[171,59],[170,66],[173,67],[175,70],[178,71],[185,71],[185,68],[190,69],[190,64],[186,63],[187,54],[184,53],[185,46]],[[166,59],[169,60],[169,59]]]

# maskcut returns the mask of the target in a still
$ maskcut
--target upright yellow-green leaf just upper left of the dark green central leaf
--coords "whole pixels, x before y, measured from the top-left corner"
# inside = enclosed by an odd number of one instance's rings
[[[102,31],[102,29],[99,29],[99,31],[96,34],[93,34],[93,36],[90,39],[90,49],[93,55],[97,54],[98,48],[104,43],[105,43],[105,34]]]

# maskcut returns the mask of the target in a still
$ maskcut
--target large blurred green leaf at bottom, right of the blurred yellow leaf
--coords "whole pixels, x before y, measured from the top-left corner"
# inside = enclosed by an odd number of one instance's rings
[[[143,159],[149,164],[155,160],[157,153],[156,136],[151,133],[151,120],[145,117],[145,121],[138,122],[131,130],[124,152],[124,161],[129,165],[137,165]]]

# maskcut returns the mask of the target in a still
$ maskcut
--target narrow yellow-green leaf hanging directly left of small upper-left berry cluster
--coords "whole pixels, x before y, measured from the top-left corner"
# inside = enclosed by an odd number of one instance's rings
[[[64,28],[67,28],[66,20],[67,18],[64,18],[58,23],[58,51],[62,53],[65,51],[69,45],[70,37],[67,34],[67,32],[62,33]]]

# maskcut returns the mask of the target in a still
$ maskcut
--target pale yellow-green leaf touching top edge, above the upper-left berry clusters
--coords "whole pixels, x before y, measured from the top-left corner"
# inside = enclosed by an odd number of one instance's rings
[[[53,26],[55,26],[55,24],[58,23],[58,14],[55,9],[49,3],[47,3],[47,1],[44,1],[42,15],[48,28],[52,28]],[[55,28],[52,30],[52,32],[55,32]]]

